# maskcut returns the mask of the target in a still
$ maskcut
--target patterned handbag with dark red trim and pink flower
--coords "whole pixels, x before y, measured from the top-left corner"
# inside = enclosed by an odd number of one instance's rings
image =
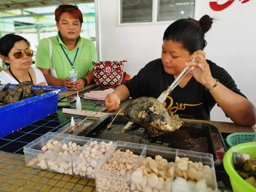
[[[123,81],[123,61],[97,61],[92,62],[94,81],[104,88],[113,88],[121,85]]]

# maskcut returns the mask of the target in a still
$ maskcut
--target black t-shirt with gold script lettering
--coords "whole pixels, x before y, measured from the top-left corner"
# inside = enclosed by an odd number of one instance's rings
[[[233,92],[245,97],[237,89],[235,81],[228,72],[217,66],[210,60],[206,60],[210,66],[212,77],[219,79],[220,83]],[[164,71],[161,59],[150,61],[139,73],[125,83],[130,91],[132,99],[139,97],[154,97],[167,89],[174,81],[174,76]],[[246,98],[246,97],[245,97]],[[163,105],[169,113],[179,114],[180,118],[210,120],[210,111],[216,104],[209,91],[192,77],[188,84],[172,90]]]

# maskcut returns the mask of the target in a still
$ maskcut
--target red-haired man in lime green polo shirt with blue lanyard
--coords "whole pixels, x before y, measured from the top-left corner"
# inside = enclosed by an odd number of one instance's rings
[[[60,5],[55,10],[56,36],[52,42],[52,68],[57,77],[50,75],[50,51],[48,39],[42,39],[36,51],[36,67],[39,68],[49,85],[65,86],[67,90],[80,90],[86,84],[94,83],[92,61],[97,52],[92,41],[80,37],[83,15],[75,5]],[[77,81],[69,78],[70,71],[78,71]]]

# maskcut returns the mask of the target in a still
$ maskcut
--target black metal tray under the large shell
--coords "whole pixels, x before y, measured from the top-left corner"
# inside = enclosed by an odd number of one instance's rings
[[[121,129],[128,122],[123,115],[118,115],[111,128],[107,129],[107,125],[114,116],[100,118],[79,135],[210,153],[213,155],[215,165],[222,163],[224,147],[218,129],[211,124],[184,121],[184,125],[174,132],[164,136],[150,137],[138,124],[132,124],[125,133],[121,133]]]

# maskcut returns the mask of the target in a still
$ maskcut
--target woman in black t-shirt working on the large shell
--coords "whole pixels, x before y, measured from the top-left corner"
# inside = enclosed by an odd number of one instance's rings
[[[181,118],[210,120],[210,111],[217,103],[234,123],[254,125],[254,105],[240,92],[225,69],[206,60],[204,34],[211,26],[212,18],[208,15],[199,21],[188,18],[173,22],[164,32],[161,59],[149,62],[130,81],[109,94],[106,108],[117,110],[120,101],[129,97],[158,98],[183,68],[194,66],[163,102],[169,113],[179,114]]]

